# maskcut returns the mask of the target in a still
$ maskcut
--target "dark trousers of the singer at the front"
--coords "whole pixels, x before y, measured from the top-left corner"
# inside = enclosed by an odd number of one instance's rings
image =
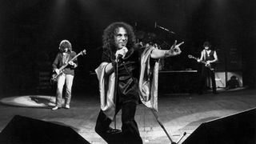
[[[109,144],[142,144],[137,123],[134,120],[136,106],[134,102],[126,102],[122,104],[122,132],[110,133],[110,118],[100,110],[95,126],[95,131]],[[119,108],[117,108],[117,113]]]

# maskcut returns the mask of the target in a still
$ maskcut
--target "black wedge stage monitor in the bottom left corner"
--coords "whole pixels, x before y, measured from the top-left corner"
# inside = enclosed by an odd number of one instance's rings
[[[88,144],[89,142],[69,126],[15,115],[0,133],[0,143]]]

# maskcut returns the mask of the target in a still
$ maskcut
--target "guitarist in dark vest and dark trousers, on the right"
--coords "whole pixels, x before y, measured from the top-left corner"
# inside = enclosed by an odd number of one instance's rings
[[[218,61],[218,56],[216,50],[211,49],[210,42],[203,43],[204,50],[201,52],[201,57],[198,59],[198,62],[206,62],[205,65],[202,66],[201,71],[201,80],[200,80],[200,87],[199,87],[199,94],[202,94],[202,90],[206,88],[206,79],[211,78],[213,93],[217,94],[216,92],[216,82],[215,82],[215,62]],[[210,70],[211,68],[211,70]]]

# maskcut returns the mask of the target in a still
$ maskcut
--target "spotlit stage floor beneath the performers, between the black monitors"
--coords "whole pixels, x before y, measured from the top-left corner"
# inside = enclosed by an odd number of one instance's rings
[[[99,96],[94,94],[74,94],[70,110],[50,110],[53,95],[1,96],[0,131],[14,115],[35,118],[70,126],[88,142],[104,144],[94,132],[99,111]],[[256,107],[256,90],[219,91],[219,94],[160,94],[158,96],[158,117],[170,137],[176,142],[184,132],[184,141],[202,122],[237,114]],[[119,112],[120,113],[120,112]],[[136,122],[143,143],[170,143],[154,115],[145,106],[139,105]],[[117,127],[121,127],[121,115],[117,116]],[[179,142],[179,143],[182,143]]]

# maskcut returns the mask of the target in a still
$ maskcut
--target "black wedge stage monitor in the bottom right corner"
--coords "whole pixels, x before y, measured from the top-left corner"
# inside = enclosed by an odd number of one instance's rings
[[[255,144],[256,110],[204,122],[182,144]]]

